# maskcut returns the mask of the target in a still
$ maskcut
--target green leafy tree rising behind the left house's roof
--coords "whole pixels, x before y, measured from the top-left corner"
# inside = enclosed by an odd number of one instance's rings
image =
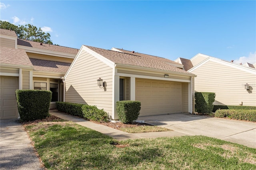
[[[15,31],[19,39],[52,44],[50,33],[45,33],[41,28],[38,29],[36,26],[31,24],[17,26],[7,21],[0,21],[0,28]]]

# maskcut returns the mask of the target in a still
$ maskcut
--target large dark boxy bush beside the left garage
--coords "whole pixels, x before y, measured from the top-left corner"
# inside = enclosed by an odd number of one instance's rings
[[[16,90],[20,121],[33,121],[49,116],[52,92],[47,90]]]

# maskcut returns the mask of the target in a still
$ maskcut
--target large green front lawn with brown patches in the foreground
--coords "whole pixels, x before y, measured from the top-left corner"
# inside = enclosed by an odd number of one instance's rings
[[[25,127],[49,170],[256,169],[256,149],[210,137],[115,141],[70,121]]]

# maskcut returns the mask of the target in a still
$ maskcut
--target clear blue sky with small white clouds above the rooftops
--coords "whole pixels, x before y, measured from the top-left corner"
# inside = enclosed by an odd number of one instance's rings
[[[5,1],[0,20],[65,47],[112,47],[175,60],[198,53],[256,63],[256,1]]]

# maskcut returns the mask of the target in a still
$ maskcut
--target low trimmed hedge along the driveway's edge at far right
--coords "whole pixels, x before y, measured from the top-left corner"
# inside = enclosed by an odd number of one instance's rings
[[[256,121],[256,109],[218,109],[216,110],[215,117],[229,117],[238,120]]]

